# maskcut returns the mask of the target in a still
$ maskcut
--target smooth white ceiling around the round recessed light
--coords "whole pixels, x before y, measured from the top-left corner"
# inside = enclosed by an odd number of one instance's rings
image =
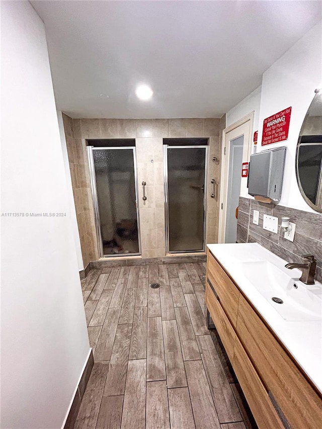
[[[308,0],[31,3],[57,108],[73,118],[220,117],[322,18]],[[134,94],[140,82],[148,102]]]

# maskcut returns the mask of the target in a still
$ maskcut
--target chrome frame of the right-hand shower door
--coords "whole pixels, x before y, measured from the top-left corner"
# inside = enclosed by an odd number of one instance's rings
[[[170,251],[169,248],[169,181],[168,181],[168,149],[189,149],[189,148],[201,148],[205,149],[205,189],[204,189],[204,198],[203,198],[203,237],[202,249],[196,250],[176,250]],[[163,159],[164,159],[164,189],[165,189],[165,232],[166,232],[166,254],[167,253],[196,253],[196,252],[204,252],[206,245],[206,215],[207,215],[207,189],[208,189],[208,153],[209,146],[169,146],[167,144],[163,145]]]

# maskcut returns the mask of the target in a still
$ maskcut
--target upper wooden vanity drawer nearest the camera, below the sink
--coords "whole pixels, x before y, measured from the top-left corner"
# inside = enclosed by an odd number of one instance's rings
[[[292,429],[319,429],[320,396],[242,295],[236,332]]]

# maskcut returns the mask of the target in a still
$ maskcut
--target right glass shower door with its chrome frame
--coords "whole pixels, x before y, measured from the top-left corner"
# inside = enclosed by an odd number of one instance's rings
[[[167,253],[205,250],[208,146],[164,144]]]

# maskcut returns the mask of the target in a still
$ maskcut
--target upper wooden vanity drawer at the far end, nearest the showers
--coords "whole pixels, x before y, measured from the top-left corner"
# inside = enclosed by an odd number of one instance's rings
[[[239,291],[220,267],[214,256],[208,251],[207,279],[213,284],[231,324],[235,327],[237,320]]]

